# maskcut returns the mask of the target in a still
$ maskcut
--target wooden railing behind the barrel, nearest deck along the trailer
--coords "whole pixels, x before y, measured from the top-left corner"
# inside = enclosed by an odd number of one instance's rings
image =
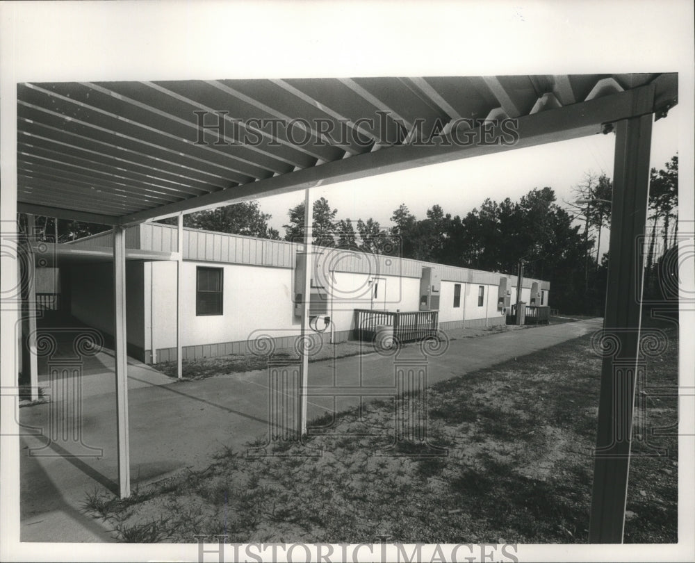
[[[424,340],[436,336],[439,311],[373,311],[355,309],[355,336],[361,341],[373,341],[377,327],[393,327],[393,336],[399,343]]]

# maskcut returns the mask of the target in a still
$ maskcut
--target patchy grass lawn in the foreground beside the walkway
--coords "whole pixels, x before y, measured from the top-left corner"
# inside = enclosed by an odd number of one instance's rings
[[[678,332],[667,334],[638,389],[646,427],[678,421],[677,395],[649,389],[678,382]],[[427,389],[427,443],[394,443],[394,405],[412,402],[379,400],[312,421],[306,446],[320,456],[295,442],[268,448],[273,457],[223,448],[204,471],[88,509],[123,541],[586,543],[600,380],[590,338]],[[633,459],[625,539],[676,542],[677,436],[635,443],[636,454],[650,448],[667,455]]]

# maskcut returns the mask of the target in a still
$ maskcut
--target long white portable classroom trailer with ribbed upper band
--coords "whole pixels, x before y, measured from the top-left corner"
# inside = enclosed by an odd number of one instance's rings
[[[74,247],[109,247],[110,231],[75,240]],[[178,230],[143,223],[126,230],[126,246],[175,252]],[[293,345],[300,332],[297,288],[303,286],[302,245],[199,229],[183,229],[181,341],[183,359],[245,353],[254,338]],[[324,341],[354,336],[355,311],[438,311],[439,329],[503,325],[516,276],[443,264],[313,247],[311,309],[329,317]],[[100,306],[112,283],[111,264],[70,266],[70,309],[83,323],[111,330]],[[522,301],[550,284],[523,279]],[[129,353],[153,363],[176,358],[177,261],[134,261],[126,268]],[[301,295],[299,295],[301,299]],[[424,300],[424,304],[423,304]]]

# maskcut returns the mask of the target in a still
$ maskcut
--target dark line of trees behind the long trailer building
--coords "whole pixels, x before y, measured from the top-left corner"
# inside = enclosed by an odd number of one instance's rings
[[[406,204],[391,215],[391,225],[373,218],[338,218],[325,197],[313,202],[313,244],[391,254],[450,266],[516,274],[523,261],[527,277],[547,279],[553,307],[566,313],[603,314],[607,253],[600,253],[611,222],[612,180],[587,172],[573,188],[575,202],[557,202],[553,188],[534,188],[513,202],[486,198],[465,215],[445,213],[435,204],[417,218]],[[184,215],[195,229],[279,239],[271,215],[259,202],[243,202]],[[673,277],[678,235],[678,155],[651,170],[645,247],[645,295],[658,298],[664,276]],[[20,218],[22,221],[23,218]],[[175,224],[176,218],[161,220]],[[59,242],[103,231],[76,221],[37,218],[39,238]],[[26,226],[26,220],[24,220]],[[304,238],[304,202],[288,211],[284,239]],[[21,225],[20,225],[20,228]],[[667,265],[671,268],[664,271]],[[673,280],[671,279],[671,285]],[[663,293],[663,292],[662,292]]]

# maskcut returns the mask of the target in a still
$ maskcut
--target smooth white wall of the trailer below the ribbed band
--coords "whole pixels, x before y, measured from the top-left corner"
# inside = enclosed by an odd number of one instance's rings
[[[196,269],[198,266],[221,268],[223,272],[223,314],[196,315]],[[174,359],[176,348],[176,266],[173,262],[156,262],[145,268],[145,357],[150,358],[153,342],[155,361]],[[418,311],[420,279],[379,275],[379,295],[373,298],[372,275],[354,272],[331,272],[327,294],[327,315],[332,327],[323,338],[334,343],[345,341],[354,330],[354,309]],[[454,307],[454,288],[461,285],[459,307]],[[478,305],[478,288],[484,288],[482,306]],[[510,286],[512,301],[516,288]],[[442,329],[485,327],[505,324],[498,309],[499,288],[496,284],[441,282],[439,323]],[[530,288],[522,295],[530,300]],[[547,292],[546,292],[547,297]],[[300,321],[293,312],[293,270],[229,264],[184,261],[182,280],[182,345],[184,358],[245,353],[247,341],[259,334],[277,338],[277,345],[290,346],[299,334]]]

